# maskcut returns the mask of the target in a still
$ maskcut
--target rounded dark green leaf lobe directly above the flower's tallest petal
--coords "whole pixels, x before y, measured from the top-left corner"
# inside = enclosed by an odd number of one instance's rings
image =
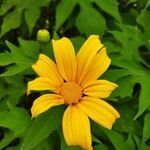
[[[81,10],[76,19],[78,30],[86,35],[98,34],[102,36],[106,29],[103,16],[89,3],[80,2],[80,7]]]

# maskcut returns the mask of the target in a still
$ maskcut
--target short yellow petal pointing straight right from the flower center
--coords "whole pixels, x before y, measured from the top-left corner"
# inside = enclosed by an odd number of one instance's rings
[[[92,97],[107,98],[118,86],[107,80],[88,82],[83,88],[83,93]]]

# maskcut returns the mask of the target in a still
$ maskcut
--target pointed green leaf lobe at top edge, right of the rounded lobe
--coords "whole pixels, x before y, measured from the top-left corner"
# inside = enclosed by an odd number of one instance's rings
[[[92,0],[95,2],[102,10],[107,12],[109,15],[113,16],[117,21],[121,22],[121,18],[118,11],[118,3],[116,0]]]

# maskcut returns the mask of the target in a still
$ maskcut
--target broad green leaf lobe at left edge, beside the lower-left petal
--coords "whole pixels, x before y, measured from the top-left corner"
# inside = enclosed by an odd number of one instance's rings
[[[15,136],[20,135],[29,126],[30,116],[23,108],[17,108],[10,103],[8,107],[9,111],[0,112],[0,126],[9,128]]]

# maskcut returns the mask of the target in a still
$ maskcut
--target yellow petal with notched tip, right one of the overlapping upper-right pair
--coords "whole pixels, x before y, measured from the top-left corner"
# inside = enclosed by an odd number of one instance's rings
[[[107,55],[106,48],[103,48],[96,54],[89,67],[86,69],[86,75],[84,76],[81,85],[84,87],[88,82],[96,80],[107,70],[110,62],[111,60]]]

